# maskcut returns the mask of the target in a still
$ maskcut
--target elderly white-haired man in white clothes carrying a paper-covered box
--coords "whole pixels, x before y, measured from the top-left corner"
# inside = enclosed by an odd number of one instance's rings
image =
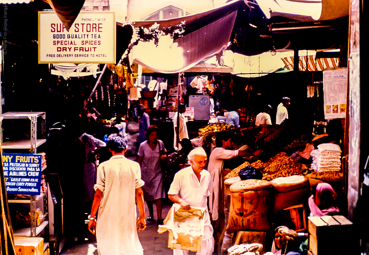
[[[205,169],[207,160],[206,153],[202,147],[190,151],[188,159],[191,166],[179,170],[174,176],[172,185],[168,191],[168,197],[174,203],[180,204],[184,210],[193,207],[207,207],[207,197],[210,173]],[[202,237],[201,250],[197,255],[211,255],[214,251],[213,227],[210,216],[206,210],[204,213],[204,235]],[[173,249],[173,255],[188,254],[188,251]]]

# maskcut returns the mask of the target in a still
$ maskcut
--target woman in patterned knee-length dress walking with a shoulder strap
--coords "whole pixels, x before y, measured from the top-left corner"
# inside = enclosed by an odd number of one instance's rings
[[[142,180],[145,186],[144,199],[149,209],[148,221],[154,221],[153,201],[156,203],[156,215],[158,225],[163,224],[162,218],[162,199],[165,198],[163,186],[163,174],[161,172],[160,160],[165,160],[166,149],[164,143],[158,140],[158,127],[151,125],[148,127],[145,135],[146,141],[142,142],[138,149],[137,162],[141,166]]]

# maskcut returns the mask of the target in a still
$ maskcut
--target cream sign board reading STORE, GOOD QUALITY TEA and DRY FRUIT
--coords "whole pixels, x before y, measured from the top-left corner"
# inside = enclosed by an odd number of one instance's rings
[[[115,64],[115,13],[81,11],[69,32],[53,11],[38,12],[38,63]]]

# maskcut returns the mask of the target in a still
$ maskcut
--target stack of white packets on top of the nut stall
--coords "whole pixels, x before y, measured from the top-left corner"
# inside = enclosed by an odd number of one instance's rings
[[[311,154],[311,168],[317,172],[341,170],[341,148],[337,144],[320,144]]]

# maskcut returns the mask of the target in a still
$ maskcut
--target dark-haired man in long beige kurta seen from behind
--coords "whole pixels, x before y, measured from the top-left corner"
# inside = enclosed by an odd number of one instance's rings
[[[138,231],[146,228],[141,172],[137,162],[124,157],[123,137],[110,135],[107,146],[113,156],[97,169],[96,193],[89,215],[89,230],[96,233],[99,255],[142,255]],[[139,217],[137,219],[137,202]],[[96,213],[99,217],[96,222]]]

